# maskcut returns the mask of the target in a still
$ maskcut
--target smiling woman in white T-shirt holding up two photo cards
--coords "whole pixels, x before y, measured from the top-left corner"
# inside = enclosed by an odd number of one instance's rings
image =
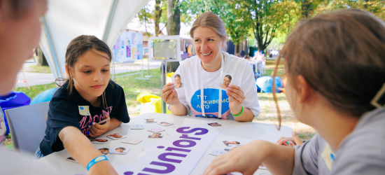
[[[175,74],[183,74],[183,88],[174,83],[163,87],[162,99],[178,116],[251,121],[260,113],[253,70],[248,62],[226,50],[227,35],[221,18],[203,13],[190,30],[197,56],[183,61]],[[218,87],[222,75],[232,76],[232,85]],[[202,98],[201,98],[202,97]]]

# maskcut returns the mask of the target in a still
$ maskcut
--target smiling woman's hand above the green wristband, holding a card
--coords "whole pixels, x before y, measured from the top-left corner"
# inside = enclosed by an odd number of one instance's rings
[[[237,85],[229,85],[226,89],[226,94],[229,96],[230,111],[237,111],[240,113],[242,110],[241,105],[244,103],[244,99],[246,99],[246,97],[244,97],[244,91]]]

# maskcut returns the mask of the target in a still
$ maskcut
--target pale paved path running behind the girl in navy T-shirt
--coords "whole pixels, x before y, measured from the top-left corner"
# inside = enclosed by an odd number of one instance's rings
[[[28,66],[31,65],[29,63],[23,65]],[[125,73],[125,72],[132,72],[132,71],[141,71],[141,60],[138,60],[136,62],[130,62],[130,63],[123,63],[123,64],[115,64],[115,73]],[[160,68],[160,62],[150,62],[149,65],[150,69],[156,69]],[[147,62],[144,62],[144,70],[147,70]],[[111,68],[111,73],[113,72]],[[55,82],[55,78],[53,77],[52,73],[33,73],[33,72],[24,72],[25,78],[27,79],[28,85],[44,85]],[[147,76],[146,74],[144,76]],[[22,72],[18,73],[18,78],[16,80],[23,81],[25,78],[22,75]],[[17,87],[27,87],[27,83],[16,83]]]

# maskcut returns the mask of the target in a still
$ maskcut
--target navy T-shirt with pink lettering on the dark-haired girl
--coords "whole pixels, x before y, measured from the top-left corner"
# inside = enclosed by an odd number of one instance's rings
[[[125,102],[125,92],[120,85],[110,80],[106,87],[106,108],[103,102],[100,107],[94,107],[87,100],[80,96],[75,88],[69,95],[68,82],[59,87],[50,101],[48,109],[47,127],[45,137],[40,143],[40,150],[43,155],[62,151],[62,141],[59,139],[59,132],[68,126],[77,127],[85,136],[90,131],[88,125],[104,120],[103,112],[109,113],[110,118],[116,118],[123,123],[130,122]],[[80,115],[80,107],[89,106],[90,116]],[[84,108],[84,107],[83,107]],[[81,108],[81,109],[83,109]],[[84,114],[84,113],[82,113]]]

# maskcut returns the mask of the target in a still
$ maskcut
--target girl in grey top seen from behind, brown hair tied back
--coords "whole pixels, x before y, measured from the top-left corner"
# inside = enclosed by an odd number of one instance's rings
[[[260,163],[272,174],[384,174],[384,22],[356,9],[318,15],[297,26],[279,55],[288,103],[317,134],[293,147],[252,141],[204,174],[248,175]]]

